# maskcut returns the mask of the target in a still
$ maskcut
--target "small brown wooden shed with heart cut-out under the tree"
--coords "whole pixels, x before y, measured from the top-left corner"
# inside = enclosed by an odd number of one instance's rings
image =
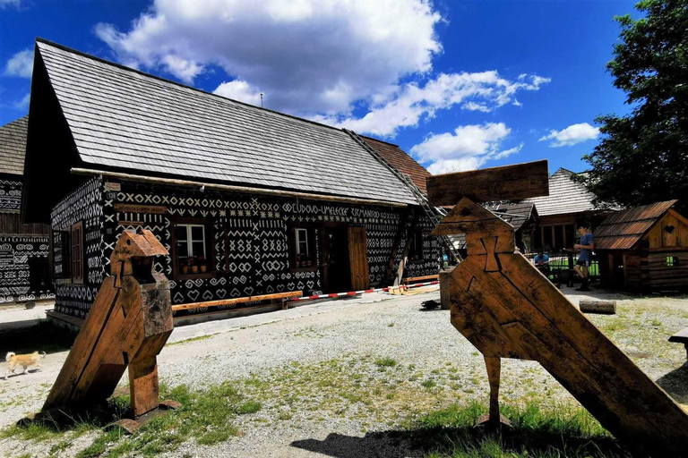
[[[594,233],[603,284],[648,292],[688,287],[688,219],[676,200],[607,216]]]

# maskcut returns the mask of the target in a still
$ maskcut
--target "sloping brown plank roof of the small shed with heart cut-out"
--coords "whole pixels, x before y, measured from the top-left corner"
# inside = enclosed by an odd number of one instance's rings
[[[632,249],[676,202],[657,202],[607,216],[595,230],[595,250]]]

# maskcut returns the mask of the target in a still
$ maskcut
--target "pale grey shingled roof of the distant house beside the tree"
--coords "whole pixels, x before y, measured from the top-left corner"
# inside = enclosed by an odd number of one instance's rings
[[[592,200],[595,194],[588,191],[581,182],[574,182],[571,170],[560,168],[549,177],[549,195],[525,199],[534,203],[539,216],[563,215],[595,211],[602,208],[595,206]]]

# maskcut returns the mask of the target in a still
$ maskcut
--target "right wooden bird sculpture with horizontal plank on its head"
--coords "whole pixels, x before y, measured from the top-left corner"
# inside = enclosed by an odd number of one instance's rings
[[[500,359],[537,360],[634,452],[684,456],[685,411],[515,250],[511,225],[476,203],[547,195],[546,170],[542,161],[427,179],[431,205],[459,202],[433,235],[466,234],[469,256],[440,275],[440,292],[452,325],[485,357],[485,420],[500,424]]]

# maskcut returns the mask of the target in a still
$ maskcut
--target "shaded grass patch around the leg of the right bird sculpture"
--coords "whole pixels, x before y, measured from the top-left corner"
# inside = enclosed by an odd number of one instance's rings
[[[486,406],[479,403],[452,404],[409,421],[406,428],[428,458],[631,456],[588,411],[580,408],[503,406],[502,412],[513,428],[503,428],[500,435],[473,427],[477,416],[485,412]]]

